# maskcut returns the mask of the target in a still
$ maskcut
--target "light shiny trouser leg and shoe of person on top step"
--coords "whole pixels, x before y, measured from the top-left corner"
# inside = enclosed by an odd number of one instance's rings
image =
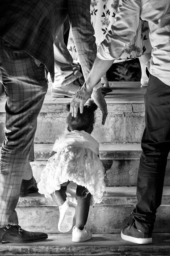
[[[55,77],[52,84],[53,97],[67,96],[67,91],[68,96],[70,96],[70,93],[74,95],[81,85],[78,80],[82,76],[79,72],[79,64],[73,63],[73,58],[64,43],[63,36],[64,24],[59,29],[54,41]]]

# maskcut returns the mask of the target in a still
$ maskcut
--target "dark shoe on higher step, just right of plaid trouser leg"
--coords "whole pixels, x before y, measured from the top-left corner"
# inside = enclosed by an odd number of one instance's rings
[[[38,192],[37,183],[34,177],[32,176],[31,180],[22,180],[20,197],[27,196],[31,193]]]

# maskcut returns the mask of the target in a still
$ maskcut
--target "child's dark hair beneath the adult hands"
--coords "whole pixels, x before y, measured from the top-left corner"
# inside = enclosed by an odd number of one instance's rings
[[[71,116],[71,113],[69,113],[67,117],[68,131],[83,130],[91,134],[94,125],[94,111],[96,109],[97,105],[94,102],[91,102],[90,106],[84,106],[82,114],[80,114],[79,109],[76,117]],[[67,111],[70,111],[70,103],[67,104]]]

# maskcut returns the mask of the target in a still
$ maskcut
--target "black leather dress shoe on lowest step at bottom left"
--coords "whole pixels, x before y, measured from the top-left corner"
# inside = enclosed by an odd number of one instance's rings
[[[28,232],[23,230],[19,225],[0,228],[0,243],[32,243],[47,239],[45,233]]]

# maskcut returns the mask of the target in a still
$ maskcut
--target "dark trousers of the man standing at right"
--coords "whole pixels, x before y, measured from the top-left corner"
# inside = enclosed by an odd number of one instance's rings
[[[153,230],[161,204],[167,155],[170,151],[170,86],[150,75],[145,100],[145,129],[137,180],[136,227]]]

